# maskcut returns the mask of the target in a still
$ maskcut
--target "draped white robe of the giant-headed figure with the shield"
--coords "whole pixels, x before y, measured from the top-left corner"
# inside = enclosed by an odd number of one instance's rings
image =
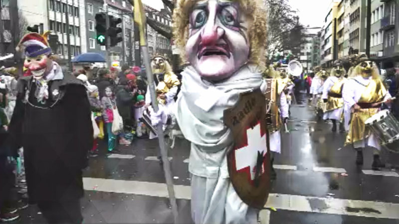
[[[223,111],[237,103],[240,93],[260,88],[262,74],[245,65],[227,80],[210,83],[189,66],[182,77],[175,115],[191,142],[192,218],[197,224],[255,224],[258,211],[241,201],[229,180],[226,154],[233,138]]]

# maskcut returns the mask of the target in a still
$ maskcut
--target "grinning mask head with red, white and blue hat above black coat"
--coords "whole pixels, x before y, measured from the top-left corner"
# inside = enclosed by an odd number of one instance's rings
[[[20,40],[17,50],[21,46],[24,47],[25,52],[24,67],[32,73],[33,78],[45,78],[52,65],[52,60],[49,58],[51,48],[48,46],[46,37],[38,33],[28,33]]]

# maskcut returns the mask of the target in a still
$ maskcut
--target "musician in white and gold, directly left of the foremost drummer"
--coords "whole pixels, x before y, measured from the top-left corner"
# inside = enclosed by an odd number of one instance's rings
[[[337,131],[337,121],[340,123],[340,131],[345,132],[343,123],[344,100],[342,99],[342,86],[345,82],[345,69],[340,60],[335,61],[331,76],[323,85],[322,99],[326,103],[326,111],[323,119],[331,119],[333,122],[332,131]]]

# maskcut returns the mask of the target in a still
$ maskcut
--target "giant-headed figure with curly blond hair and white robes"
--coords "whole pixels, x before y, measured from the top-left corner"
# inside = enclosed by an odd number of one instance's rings
[[[261,0],[178,0],[174,10],[175,43],[190,63],[181,73],[174,116],[191,142],[197,224],[257,223],[258,210],[242,202],[229,179],[226,155],[234,139],[223,112],[235,106],[240,93],[264,83],[257,65],[264,59],[265,18]],[[151,113],[153,124],[163,115]]]

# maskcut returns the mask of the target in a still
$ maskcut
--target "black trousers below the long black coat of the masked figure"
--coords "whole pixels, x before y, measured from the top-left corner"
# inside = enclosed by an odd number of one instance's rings
[[[79,199],[38,202],[37,206],[49,224],[81,224],[83,222]]]

